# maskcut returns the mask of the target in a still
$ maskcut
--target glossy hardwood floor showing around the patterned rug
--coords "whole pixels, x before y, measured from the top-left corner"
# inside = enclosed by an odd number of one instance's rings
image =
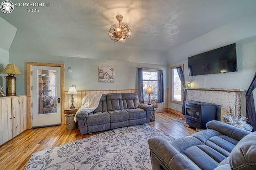
[[[156,113],[156,121],[149,124],[172,135],[174,138],[195,133],[194,129],[183,125],[182,119],[184,119],[183,115],[170,112]],[[27,130],[0,146],[0,170],[24,169],[34,152],[50,149],[98,133],[102,132],[81,135],[78,128],[66,130],[66,125]]]

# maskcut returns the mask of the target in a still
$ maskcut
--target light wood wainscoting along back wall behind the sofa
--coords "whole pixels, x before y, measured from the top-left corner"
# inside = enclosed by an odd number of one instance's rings
[[[64,102],[64,109],[69,108],[71,106],[70,98],[71,96],[67,94],[68,91],[65,91],[65,102]],[[78,90],[78,95],[74,95],[74,106],[80,107],[82,104],[82,99],[88,93],[137,93],[137,89],[124,89],[124,90]],[[164,89],[164,102],[157,103],[158,108],[156,112],[163,112],[168,110],[168,89]],[[66,117],[65,117],[66,123]]]

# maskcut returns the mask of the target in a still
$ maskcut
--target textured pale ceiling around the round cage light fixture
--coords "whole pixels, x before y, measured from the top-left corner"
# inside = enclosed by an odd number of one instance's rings
[[[12,0],[12,2],[20,2]],[[23,0],[22,2],[36,2]],[[255,15],[256,0],[42,0],[49,7],[15,7],[0,16],[18,30],[115,43],[108,29],[122,14],[132,37],[122,45],[168,51],[237,18]],[[32,8],[32,7],[31,7]]]

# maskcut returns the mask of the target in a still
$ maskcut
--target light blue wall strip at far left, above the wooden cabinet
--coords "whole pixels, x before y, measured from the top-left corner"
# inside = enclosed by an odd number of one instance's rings
[[[9,63],[9,48],[14,39],[17,29],[10,25],[6,20],[0,17],[0,72],[4,70]],[[5,78],[7,74],[0,74],[0,86],[4,87],[5,91]]]

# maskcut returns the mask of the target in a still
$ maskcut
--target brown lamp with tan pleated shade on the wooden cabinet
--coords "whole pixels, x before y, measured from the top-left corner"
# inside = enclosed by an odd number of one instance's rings
[[[14,75],[22,73],[15,64],[8,64],[1,73],[8,74],[5,76],[6,96],[16,96],[16,77]]]

